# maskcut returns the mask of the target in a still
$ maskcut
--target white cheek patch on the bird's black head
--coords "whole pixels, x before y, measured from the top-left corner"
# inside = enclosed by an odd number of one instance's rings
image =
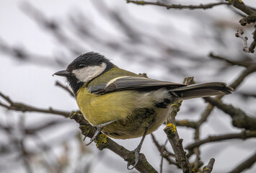
[[[105,71],[106,67],[106,63],[102,63],[100,66],[86,66],[72,71],[72,74],[74,74],[79,81],[86,83]]]

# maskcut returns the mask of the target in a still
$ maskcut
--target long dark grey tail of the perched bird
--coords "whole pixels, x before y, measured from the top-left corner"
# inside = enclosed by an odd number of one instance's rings
[[[206,84],[191,84],[171,89],[172,94],[177,94],[179,100],[194,99],[198,97],[210,97],[216,95],[231,94],[233,89],[223,82],[211,82]]]

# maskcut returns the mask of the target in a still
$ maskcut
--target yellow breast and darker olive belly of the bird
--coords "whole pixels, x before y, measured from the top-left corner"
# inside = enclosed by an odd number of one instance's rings
[[[167,117],[168,108],[155,107],[154,94],[137,91],[91,94],[82,86],[76,96],[76,102],[84,117],[92,125],[106,125],[102,132],[112,138],[136,138],[156,130]]]

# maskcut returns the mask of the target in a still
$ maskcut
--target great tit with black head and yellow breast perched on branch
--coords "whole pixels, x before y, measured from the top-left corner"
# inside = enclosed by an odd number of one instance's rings
[[[223,82],[185,85],[141,77],[94,52],[77,57],[54,75],[66,77],[85,119],[97,127],[90,143],[101,131],[118,139],[143,136],[135,150],[136,163],[145,136],[162,125],[173,103],[232,91]]]

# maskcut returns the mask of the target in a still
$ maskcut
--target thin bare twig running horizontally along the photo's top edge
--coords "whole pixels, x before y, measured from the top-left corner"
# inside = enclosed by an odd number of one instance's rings
[[[151,2],[151,1],[130,1],[127,0],[127,3],[133,3],[138,5],[155,5],[155,6],[164,6],[167,9],[211,9],[213,6],[219,6],[219,5],[230,5],[228,2],[217,2],[212,4],[200,4],[200,5],[181,5],[181,4],[172,4],[167,5],[163,4],[160,1]]]

